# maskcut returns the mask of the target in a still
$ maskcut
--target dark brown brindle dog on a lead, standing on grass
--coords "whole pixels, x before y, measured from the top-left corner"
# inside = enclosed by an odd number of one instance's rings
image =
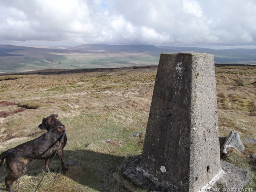
[[[45,134],[0,154],[0,166],[3,164],[4,159],[6,159],[8,175],[5,178],[5,185],[7,191],[14,192],[12,189],[13,182],[24,174],[27,164],[32,159],[45,159],[45,168],[48,171],[50,158],[56,153],[62,168],[67,170],[62,150],[68,139],[65,134],[65,126],[56,117],[58,115],[52,114],[47,118],[43,118],[42,124],[38,127],[46,129],[47,132]]]

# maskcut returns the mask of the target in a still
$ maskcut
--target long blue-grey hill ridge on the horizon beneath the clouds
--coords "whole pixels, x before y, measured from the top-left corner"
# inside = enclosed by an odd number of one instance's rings
[[[213,54],[216,63],[256,64],[256,49],[224,49],[215,50],[198,47],[175,47],[154,45],[106,45],[83,44],[66,50],[72,51],[105,51],[105,52],[146,52],[153,56],[162,52],[197,52]],[[64,50],[64,51],[66,51]]]

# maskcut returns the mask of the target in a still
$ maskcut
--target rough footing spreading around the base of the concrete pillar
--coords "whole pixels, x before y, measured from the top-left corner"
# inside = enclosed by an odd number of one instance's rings
[[[221,161],[221,168],[223,170],[222,176],[215,184],[204,189],[204,191],[217,191],[217,189],[242,189],[250,182],[249,172],[242,168],[238,168],[228,162]],[[184,188],[177,188],[170,182],[158,180],[152,174],[149,174],[142,168],[141,155],[135,156],[124,164],[124,176],[129,178],[136,186],[144,188],[147,191],[154,192],[187,192]],[[175,175],[174,175],[175,176]],[[209,190],[212,188],[212,190]],[[218,190],[224,191],[224,190]]]

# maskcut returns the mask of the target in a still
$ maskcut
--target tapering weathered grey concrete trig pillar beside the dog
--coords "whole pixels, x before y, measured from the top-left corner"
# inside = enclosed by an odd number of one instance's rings
[[[220,172],[213,55],[161,54],[142,166],[186,192]]]

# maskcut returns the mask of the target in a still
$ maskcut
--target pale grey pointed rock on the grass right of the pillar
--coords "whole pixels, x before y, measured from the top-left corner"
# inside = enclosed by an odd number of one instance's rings
[[[244,144],[240,140],[239,133],[235,130],[232,130],[230,134],[228,134],[220,151],[224,154],[227,154],[228,153],[227,148],[229,147],[235,148],[236,150],[240,150],[240,151],[243,151],[245,149]]]

